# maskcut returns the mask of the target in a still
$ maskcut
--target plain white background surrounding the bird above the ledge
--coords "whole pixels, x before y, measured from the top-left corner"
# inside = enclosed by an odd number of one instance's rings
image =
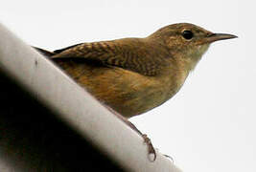
[[[214,43],[175,97],[131,120],[183,171],[255,172],[254,7],[238,0],[9,0],[1,3],[0,21],[49,50],[144,37],[178,22],[238,35]]]

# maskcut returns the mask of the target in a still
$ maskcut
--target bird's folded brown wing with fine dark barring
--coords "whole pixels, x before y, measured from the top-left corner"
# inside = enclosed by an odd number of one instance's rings
[[[128,44],[128,46],[130,46],[130,44]],[[127,51],[126,48],[128,48],[128,46],[120,46],[113,41],[103,41],[81,43],[54,51],[53,53],[38,48],[36,48],[36,50],[42,54],[50,54],[50,58],[53,60],[81,58],[98,61],[107,66],[120,67],[141,75],[157,75],[160,70],[160,64],[163,63],[157,60],[157,58],[150,57],[151,53],[147,54],[145,50],[133,52],[131,48],[130,50],[132,51]],[[86,60],[84,60],[84,62],[86,63]]]

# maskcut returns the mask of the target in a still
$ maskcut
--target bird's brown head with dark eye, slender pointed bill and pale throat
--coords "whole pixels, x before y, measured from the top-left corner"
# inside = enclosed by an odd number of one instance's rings
[[[186,61],[189,71],[194,69],[211,43],[236,37],[232,34],[209,32],[189,23],[169,25],[149,36],[167,46],[172,57]]]

